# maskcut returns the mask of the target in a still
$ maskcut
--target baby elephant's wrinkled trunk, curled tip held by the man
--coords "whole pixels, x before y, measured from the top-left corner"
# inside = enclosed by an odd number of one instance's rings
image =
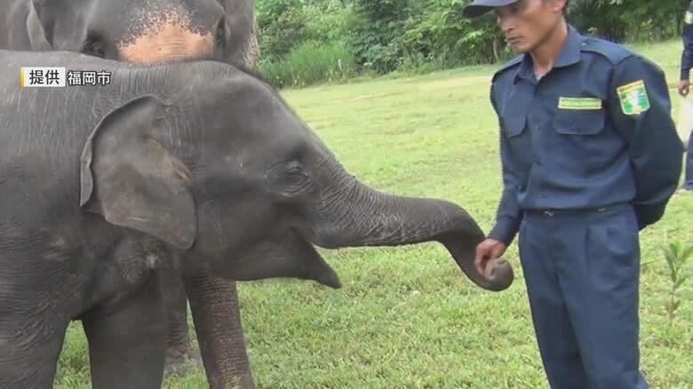
[[[346,174],[331,170],[310,226],[312,242],[325,248],[399,246],[441,242],[466,276],[484,290],[505,290],[513,269],[503,258],[490,260],[484,274],[474,266],[481,227],[453,202],[380,193]],[[337,189],[339,188],[339,190]]]

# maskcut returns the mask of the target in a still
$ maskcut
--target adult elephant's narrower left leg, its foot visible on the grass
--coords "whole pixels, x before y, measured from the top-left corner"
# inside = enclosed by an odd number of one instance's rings
[[[166,341],[165,374],[183,372],[202,365],[202,358],[193,348],[188,337],[187,295],[178,272],[165,272],[167,282],[166,312],[168,314],[168,339]]]

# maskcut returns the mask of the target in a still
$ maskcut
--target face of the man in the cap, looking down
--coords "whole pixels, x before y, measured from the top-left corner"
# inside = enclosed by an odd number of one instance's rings
[[[513,51],[531,52],[562,19],[565,0],[520,0],[494,9],[498,27]]]

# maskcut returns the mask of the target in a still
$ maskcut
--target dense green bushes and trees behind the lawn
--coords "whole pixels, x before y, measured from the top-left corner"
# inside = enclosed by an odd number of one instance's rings
[[[492,15],[471,0],[256,0],[260,72],[278,86],[506,60]],[[689,0],[570,0],[569,20],[617,42],[679,36]]]

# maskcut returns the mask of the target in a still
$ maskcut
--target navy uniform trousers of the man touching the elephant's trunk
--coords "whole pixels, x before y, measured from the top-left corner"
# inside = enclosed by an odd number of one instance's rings
[[[524,212],[519,250],[554,389],[641,389],[640,242],[633,207]]]

